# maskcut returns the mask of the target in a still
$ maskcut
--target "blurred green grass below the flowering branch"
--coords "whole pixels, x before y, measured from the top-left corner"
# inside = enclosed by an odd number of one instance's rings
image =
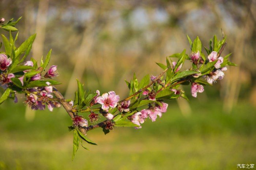
[[[63,109],[38,111],[29,122],[22,104],[7,102],[0,107],[0,169],[231,170],[256,164],[256,108],[240,101],[226,114],[219,99],[211,100],[192,100],[188,117],[172,101],[162,118],[139,130],[90,131],[98,146],[80,147],[74,161],[71,120]]]

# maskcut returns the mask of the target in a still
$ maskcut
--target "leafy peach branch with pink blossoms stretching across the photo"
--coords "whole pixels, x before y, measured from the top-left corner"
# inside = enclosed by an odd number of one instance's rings
[[[7,24],[0,25],[0,28],[10,31],[9,39],[1,35],[5,51],[0,51],[0,84],[4,89],[0,104],[7,98],[16,103],[18,100],[16,94],[22,93],[26,98],[24,103],[32,110],[44,110],[47,106],[50,111],[53,111],[53,108],[62,105],[73,122],[68,127],[74,132],[72,159],[79,144],[88,149],[83,141],[96,145],[87,137],[87,131],[100,127],[105,134],[108,134],[110,130],[118,126],[142,128],[143,123],[148,119],[156,121],[158,117],[163,116],[163,113],[167,111],[167,100],[180,97],[188,100],[185,92],[179,88],[180,85],[191,85],[191,95],[197,97],[197,93],[204,92],[205,85],[212,85],[223,79],[224,72],[227,70],[226,66],[236,66],[228,60],[230,54],[225,57],[221,56],[226,46],[226,36],[223,36],[222,40],[217,40],[214,35],[210,39],[209,49],[204,47],[206,54],[202,51],[199,37],[192,42],[187,36],[191,51],[186,54],[186,50],[183,50],[181,53],[166,57],[166,64],[157,63],[163,69],[161,74],[146,75],[140,81],[134,74],[131,81],[125,80],[129,88],[127,98],[120,100],[119,95],[114,91],[103,94],[99,90],[86,93],[83,84],[77,80],[78,90],[75,92],[75,97],[67,100],[54,87],[60,84],[52,80],[59,76],[57,66],[53,65],[47,69],[51,50],[45,58],[42,57],[38,65],[33,58],[25,62],[35,34],[19,47],[15,46],[18,34],[13,38],[11,31],[17,30],[15,24],[19,20],[20,18],[15,22],[10,20]],[[3,18],[0,19],[0,23],[4,21]],[[173,58],[177,58],[177,62],[172,61]],[[185,60],[191,61],[191,67],[182,68]],[[106,119],[97,123],[100,115]]]

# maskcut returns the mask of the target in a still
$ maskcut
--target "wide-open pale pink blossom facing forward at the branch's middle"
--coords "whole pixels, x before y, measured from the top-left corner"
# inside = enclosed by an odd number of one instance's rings
[[[114,91],[109,93],[103,93],[102,96],[97,97],[96,102],[102,105],[103,110],[109,109],[109,107],[115,108],[119,101],[119,95],[116,95]]]

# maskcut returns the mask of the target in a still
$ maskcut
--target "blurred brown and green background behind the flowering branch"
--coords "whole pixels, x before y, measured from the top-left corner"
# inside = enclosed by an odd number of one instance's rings
[[[52,49],[59,90],[72,98],[78,78],[87,90],[127,96],[124,79],[159,74],[155,62],[188,49],[186,35],[204,46],[227,35],[233,53],[225,78],[190,102],[169,101],[169,111],[143,128],[101,129],[98,146],[80,148],[74,161],[71,120],[63,108],[32,112],[22,103],[0,106],[0,169],[237,169],[256,164],[255,0],[1,0],[0,17],[23,16],[23,42],[37,33],[30,57]],[[8,35],[8,32],[1,32]],[[16,34],[15,32],[13,33]],[[2,47],[3,50],[3,47]],[[184,67],[188,66],[185,65]],[[87,117],[86,113],[83,113]]]

